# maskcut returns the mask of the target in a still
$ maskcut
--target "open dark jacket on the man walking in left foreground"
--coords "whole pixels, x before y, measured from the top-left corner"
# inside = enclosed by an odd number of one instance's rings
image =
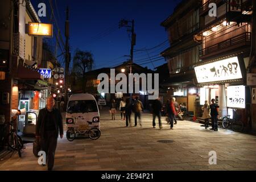
[[[55,128],[56,128],[56,138],[59,135],[63,135],[63,122],[62,122],[62,117],[60,114],[60,111],[58,109],[53,108],[53,122],[55,123]],[[41,109],[39,111],[38,115],[38,121],[36,123],[36,135],[40,136],[41,138],[44,138],[44,131],[45,128],[45,122],[46,122],[46,115],[47,115],[47,108]]]

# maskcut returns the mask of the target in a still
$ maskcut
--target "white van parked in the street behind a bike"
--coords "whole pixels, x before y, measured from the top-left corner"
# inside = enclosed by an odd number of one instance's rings
[[[67,127],[89,125],[100,129],[100,113],[96,99],[92,94],[72,94],[69,97],[66,124]]]

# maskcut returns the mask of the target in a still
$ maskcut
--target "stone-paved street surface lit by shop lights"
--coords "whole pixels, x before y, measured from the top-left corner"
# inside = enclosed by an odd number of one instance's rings
[[[163,129],[152,128],[152,116],[142,114],[142,127],[124,127],[117,114],[110,120],[101,111],[101,138],[59,139],[55,170],[255,170],[256,137],[220,129],[205,130],[199,123],[178,121],[174,130],[163,118]],[[134,120],[132,120],[134,121]],[[158,122],[158,121],[156,121]],[[157,125],[158,126],[158,125]],[[159,143],[158,140],[173,140]],[[209,151],[217,152],[217,164],[209,165]],[[46,170],[26,144],[18,154],[0,161],[0,170]]]

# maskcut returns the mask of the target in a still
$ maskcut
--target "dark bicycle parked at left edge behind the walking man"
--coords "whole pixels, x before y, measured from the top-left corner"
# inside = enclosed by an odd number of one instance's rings
[[[21,158],[21,151],[24,147],[22,138],[16,133],[16,130],[13,127],[14,122],[11,121],[10,123],[5,124],[5,126],[11,126],[9,134],[7,134],[7,144],[8,146],[13,149],[17,150],[19,157]]]

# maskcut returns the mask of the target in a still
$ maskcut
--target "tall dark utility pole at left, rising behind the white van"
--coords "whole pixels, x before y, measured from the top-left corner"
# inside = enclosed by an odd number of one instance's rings
[[[66,11],[66,21],[65,21],[65,38],[66,38],[66,44],[65,44],[65,106],[67,106],[68,103],[68,68],[69,68],[69,62],[70,62],[70,53],[69,53],[69,10],[67,6]]]

